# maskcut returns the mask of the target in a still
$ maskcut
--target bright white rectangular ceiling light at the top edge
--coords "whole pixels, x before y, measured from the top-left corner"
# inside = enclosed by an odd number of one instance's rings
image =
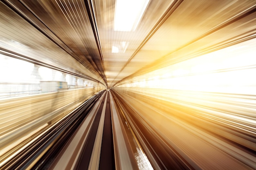
[[[135,31],[149,0],[117,0],[115,31]]]

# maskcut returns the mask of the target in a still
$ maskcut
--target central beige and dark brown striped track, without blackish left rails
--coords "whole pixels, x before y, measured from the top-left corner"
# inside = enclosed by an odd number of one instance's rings
[[[117,107],[110,92],[102,94],[51,166],[46,169],[139,170],[141,166],[152,169]],[[45,169],[43,162],[34,168]]]

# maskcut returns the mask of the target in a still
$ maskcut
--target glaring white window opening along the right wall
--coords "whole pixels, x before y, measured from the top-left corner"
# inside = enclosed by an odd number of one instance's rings
[[[121,87],[255,95],[256,39],[133,77]]]

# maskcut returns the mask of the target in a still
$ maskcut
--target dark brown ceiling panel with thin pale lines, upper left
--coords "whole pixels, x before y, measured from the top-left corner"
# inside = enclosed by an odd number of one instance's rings
[[[29,9],[75,53],[73,57],[76,60],[97,72],[102,79],[106,79],[103,60],[83,0],[23,0],[21,3],[23,8]]]

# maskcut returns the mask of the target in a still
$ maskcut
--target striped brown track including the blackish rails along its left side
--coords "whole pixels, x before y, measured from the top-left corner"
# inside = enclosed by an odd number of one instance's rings
[[[110,91],[94,95],[0,169],[152,169],[114,98]]]

